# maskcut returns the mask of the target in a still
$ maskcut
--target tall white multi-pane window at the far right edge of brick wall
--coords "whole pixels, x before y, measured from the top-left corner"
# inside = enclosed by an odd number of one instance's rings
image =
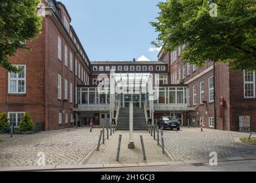
[[[245,98],[255,98],[255,71],[243,71]]]

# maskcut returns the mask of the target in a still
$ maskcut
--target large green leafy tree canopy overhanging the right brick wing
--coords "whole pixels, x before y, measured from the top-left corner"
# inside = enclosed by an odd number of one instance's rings
[[[217,6],[217,15],[212,16]],[[159,33],[153,45],[164,53],[186,45],[184,62],[203,66],[205,61],[230,62],[231,69],[256,70],[256,1],[167,0],[150,22]]]

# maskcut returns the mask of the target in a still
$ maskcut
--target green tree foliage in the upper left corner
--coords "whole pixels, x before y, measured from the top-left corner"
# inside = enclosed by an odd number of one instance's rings
[[[29,49],[24,41],[34,39],[41,30],[41,17],[36,13],[40,0],[0,0],[0,66],[17,73],[8,57],[17,49]]]

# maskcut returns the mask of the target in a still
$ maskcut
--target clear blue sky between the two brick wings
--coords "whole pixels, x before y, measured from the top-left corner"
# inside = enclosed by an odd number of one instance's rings
[[[90,61],[157,60],[150,21],[161,0],[60,0]],[[164,1],[164,0],[162,0]]]

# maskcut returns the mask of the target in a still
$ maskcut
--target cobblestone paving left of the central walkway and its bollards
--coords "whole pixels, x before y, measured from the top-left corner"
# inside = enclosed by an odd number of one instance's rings
[[[32,135],[0,134],[0,166],[36,166],[40,152],[45,153],[46,165],[82,164],[95,148],[99,130],[63,129]]]

